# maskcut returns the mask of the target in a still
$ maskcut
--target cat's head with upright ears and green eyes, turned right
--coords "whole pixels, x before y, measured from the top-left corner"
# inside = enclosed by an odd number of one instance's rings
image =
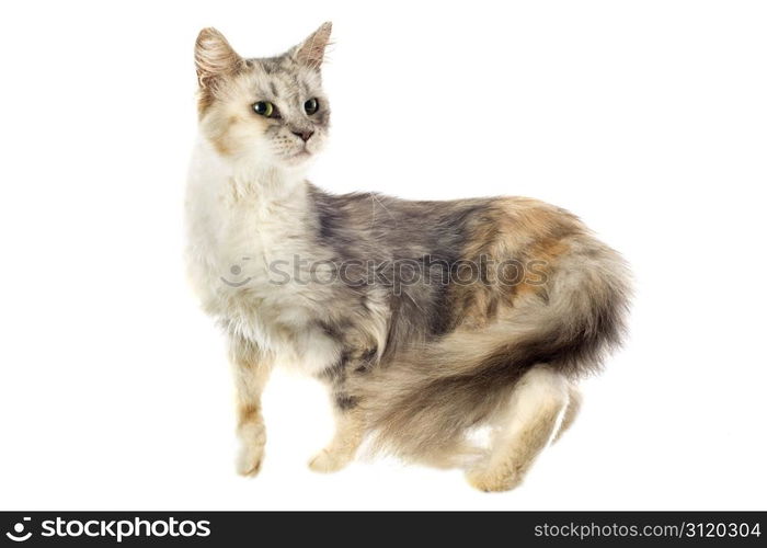
[[[321,150],[330,106],[320,67],[331,23],[277,57],[240,57],[221,33],[195,44],[203,136],[226,158],[295,168]]]

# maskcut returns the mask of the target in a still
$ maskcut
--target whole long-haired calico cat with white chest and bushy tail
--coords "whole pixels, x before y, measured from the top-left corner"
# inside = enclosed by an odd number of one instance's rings
[[[238,471],[257,473],[261,393],[276,364],[293,364],[332,395],[335,434],[312,470],[340,470],[366,442],[510,490],[621,342],[627,266],[535,199],[411,202],[306,181],[328,139],[330,34],[324,23],[268,58],[241,57],[214,28],[195,44],[186,255],[229,344]]]

